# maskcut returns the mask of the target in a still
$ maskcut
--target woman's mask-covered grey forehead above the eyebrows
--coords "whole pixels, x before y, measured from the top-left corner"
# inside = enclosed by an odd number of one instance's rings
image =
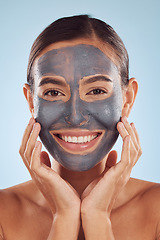
[[[117,75],[118,69],[99,48],[88,44],[52,49],[37,61],[38,75],[60,75],[64,78],[95,74]]]

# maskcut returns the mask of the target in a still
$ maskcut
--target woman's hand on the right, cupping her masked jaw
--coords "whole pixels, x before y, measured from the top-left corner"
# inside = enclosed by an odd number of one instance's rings
[[[115,200],[128,182],[133,166],[138,161],[142,150],[138,133],[133,123],[127,118],[117,124],[117,129],[123,139],[121,160],[117,161],[116,151],[111,151],[106,161],[105,171],[95,179],[83,192],[81,213],[92,216],[104,213],[110,218]],[[93,218],[91,218],[93,219]]]

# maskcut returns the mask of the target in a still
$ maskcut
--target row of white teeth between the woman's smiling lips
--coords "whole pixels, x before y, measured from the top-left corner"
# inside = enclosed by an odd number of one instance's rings
[[[62,140],[64,140],[65,142],[71,142],[71,143],[86,143],[86,142],[90,142],[93,139],[95,139],[98,135],[89,135],[89,136],[61,136]]]

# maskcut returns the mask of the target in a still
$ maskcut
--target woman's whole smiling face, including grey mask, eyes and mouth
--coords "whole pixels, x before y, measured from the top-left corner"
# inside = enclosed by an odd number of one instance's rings
[[[40,138],[65,168],[86,171],[118,137],[122,89],[109,54],[86,43],[53,44],[34,63],[34,117]]]

